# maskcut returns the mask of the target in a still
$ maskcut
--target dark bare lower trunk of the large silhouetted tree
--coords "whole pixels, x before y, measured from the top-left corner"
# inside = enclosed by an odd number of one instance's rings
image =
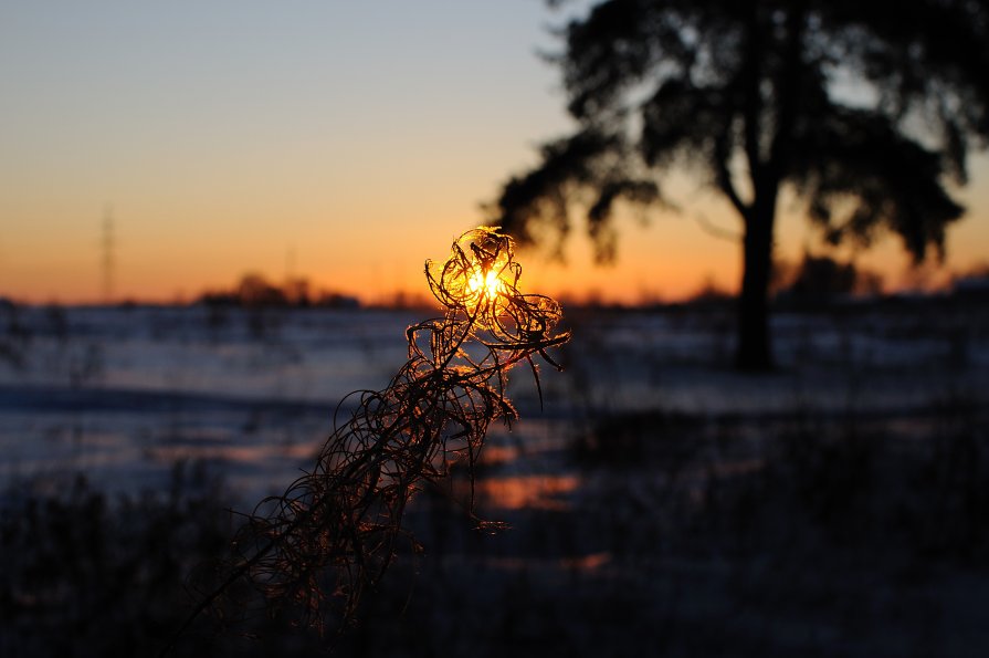
[[[775,203],[757,207],[745,222],[735,367],[748,373],[768,372],[775,365],[769,332],[775,210]]]

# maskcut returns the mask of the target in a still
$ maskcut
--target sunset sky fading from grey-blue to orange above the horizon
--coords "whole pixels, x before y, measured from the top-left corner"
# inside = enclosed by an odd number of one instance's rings
[[[3,3],[0,296],[99,300],[107,216],[116,299],[188,300],[249,271],[366,302],[425,292],[423,260],[571,127],[537,55],[562,19],[539,0]],[[989,258],[989,159],[970,174],[955,270]],[[736,219],[691,181],[674,198],[678,215],[621,222],[616,267],[575,234],[568,267],[524,255],[524,281],[623,302],[734,289],[738,247],[697,218]],[[789,212],[779,252],[806,244]],[[895,238],[860,262],[906,281]]]

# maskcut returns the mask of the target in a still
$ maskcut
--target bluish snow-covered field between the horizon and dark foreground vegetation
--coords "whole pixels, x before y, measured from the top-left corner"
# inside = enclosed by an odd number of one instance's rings
[[[0,482],[82,471],[102,487],[133,490],[164,485],[176,460],[204,460],[245,499],[278,490],[305,467],[348,393],[387,385],[406,358],[404,328],[425,316],[204,307],[6,315]],[[514,374],[523,421],[511,436],[494,432],[490,459],[562,450],[589,421],[627,412],[855,414],[908,426],[939,405],[987,401],[981,320],[898,307],[780,315],[780,372],[753,377],[727,368],[724,310],[576,312],[574,342],[557,355],[566,372],[541,369],[541,408],[532,377]],[[567,469],[515,468],[526,476]]]

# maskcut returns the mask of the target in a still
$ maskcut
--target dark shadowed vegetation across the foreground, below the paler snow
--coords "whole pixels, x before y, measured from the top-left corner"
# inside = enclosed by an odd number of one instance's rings
[[[558,456],[578,488],[484,512],[509,530],[420,497],[424,553],[400,557],[344,637],[272,612],[201,619],[175,655],[985,655],[989,418],[959,398],[902,425],[600,417]],[[209,584],[225,506],[185,467],[157,494],[8,491],[0,654],[154,655]]]

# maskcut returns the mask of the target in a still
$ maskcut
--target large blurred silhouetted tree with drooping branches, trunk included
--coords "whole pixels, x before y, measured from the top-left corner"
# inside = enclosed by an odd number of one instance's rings
[[[553,60],[579,127],[491,206],[523,243],[562,238],[578,201],[598,259],[613,259],[614,202],[663,201],[661,175],[688,167],[741,219],[743,369],[772,365],[782,190],[831,242],[888,230],[916,261],[943,257],[964,211],[946,180],[966,181],[989,135],[989,1],[610,0],[562,36]]]

